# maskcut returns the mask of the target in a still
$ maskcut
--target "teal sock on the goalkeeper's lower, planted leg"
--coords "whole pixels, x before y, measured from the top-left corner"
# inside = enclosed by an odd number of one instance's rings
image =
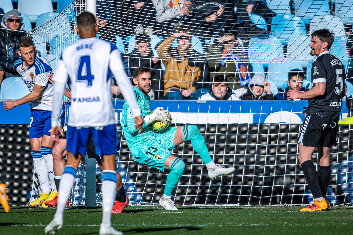
[[[166,187],[164,188],[164,194],[167,196],[172,195],[172,191],[177,186],[181,175],[184,173],[185,163],[180,158],[176,157],[170,164],[170,172],[167,176]]]

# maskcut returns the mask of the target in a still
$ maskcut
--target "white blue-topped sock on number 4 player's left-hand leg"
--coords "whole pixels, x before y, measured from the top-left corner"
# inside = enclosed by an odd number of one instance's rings
[[[64,172],[61,175],[59,194],[58,194],[58,206],[56,207],[55,216],[64,216],[64,209],[66,202],[71,192],[72,185],[75,181],[76,169],[72,166],[65,166]]]

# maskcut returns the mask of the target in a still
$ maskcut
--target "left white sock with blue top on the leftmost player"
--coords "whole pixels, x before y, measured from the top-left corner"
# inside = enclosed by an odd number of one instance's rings
[[[50,184],[47,173],[47,165],[44,161],[44,158],[41,156],[41,153],[39,151],[31,150],[31,155],[34,161],[34,169],[37,173],[38,180],[42,185],[42,191],[43,193],[49,194]]]

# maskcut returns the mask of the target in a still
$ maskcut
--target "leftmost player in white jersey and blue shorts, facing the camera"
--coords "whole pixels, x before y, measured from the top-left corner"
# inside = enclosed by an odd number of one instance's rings
[[[25,97],[4,102],[4,108],[11,110],[14,107],[29,103],[31,118],[29,123],[29,138],[31,142],[31,155],[35,171],[42,186],[42,193],[30,206],[42,206],[46,200],[51,200],[56,192],[53,173],[52,147],[54,141],[50,138],[50,116],[52,111],[53,85],[48,82],[52,73],[48,61],[35,55],[35,47],[29,37],[22,37],[18,41],[18,55],[20,58],[13,68],[20,74],[30,93]],[[64,109],[61,109],[60,122],[64,121]],[[52,187],[50,188],[50,182]]]

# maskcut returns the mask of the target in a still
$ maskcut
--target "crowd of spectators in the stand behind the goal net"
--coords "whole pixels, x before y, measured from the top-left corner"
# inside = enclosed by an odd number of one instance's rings
[[[304,72],[289,71],[283,90],[271,93],[270,83],[253,73],[247,56],[244,42],[266,33],[250,20],[250,13],[262,16],[268,27],[276,16],[265,0],[98,1],[98,35],[113,43],[118,35],[125,43],[122,56],[128,76],[139,66],[152,69],[152,99],[288,100],[289,89],[305,90]],[[11,65],[18,58],[17,42],[25,36],[18,11],[4,13],[0,8],[1,17],[0,84],[16,75]],[[134,48],[124,53],[132,35]],[[155,48],[153,35],[161,38]],[[195,36],[203,51],[195,50]],[[353,74],[353,60],[349,66],[348,74]],[[123,98],[119,87],[113,87],[113,98]]]

